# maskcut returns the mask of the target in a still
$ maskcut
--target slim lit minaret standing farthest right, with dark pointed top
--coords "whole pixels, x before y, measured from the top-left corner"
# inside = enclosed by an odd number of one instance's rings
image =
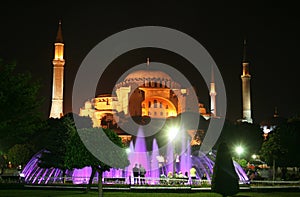
[[[253,123],[251,118],[251,93],[250,93],[250,79],[249,62],[246,58],[246,40],[244,40],[244,55],[243,55],[243,74],[242,78],[242,96],[243,96],[243,122]]]

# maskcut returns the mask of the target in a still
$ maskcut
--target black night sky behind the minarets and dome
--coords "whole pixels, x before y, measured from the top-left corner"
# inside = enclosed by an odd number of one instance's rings
[[[45,117],[50,112],[52,59],[59,19],[65,43],[65,113],[71,111],[73,80],[88,52],[112,34],[146,25],[182,31],[206,48],[225,82],[228,119],[237,120],[242,116],[240,76],[244,38],[248,43],[247,58],[252,76],[254,122],[271,117],[275,107],[279,115],[286,118],[300,112],[300,32],[296,5],[247,1],[240,4],[226,1],[205,4],[202,1],[40,2],[1,5],[0,57],[16,60],[18,71],[30,71],[35,79],[41,80]],[[208,90],[201,75],[195,73],[184,58],[159,49],[131,51],[117,58],[101,79],[105,86],[100,85],[96,94],[109,93],[123,72],[146,62],[147,57],[174,66],[190,78],[200,102],[209,109]]]

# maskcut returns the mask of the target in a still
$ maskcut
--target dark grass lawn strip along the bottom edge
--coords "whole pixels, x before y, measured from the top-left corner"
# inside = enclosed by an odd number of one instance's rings
[[[149,191],[150,192],[150,191]],[[97,192],[91,191],[86,194],[82,191],[70,190],[0,190],[2,197],[96,197]],[[211,192],[195,193],[137,193],[137,192],[104,192],[104,197],[222,197],[220,194]],[[299,197],[300,192],[240,192],[236,197]]]

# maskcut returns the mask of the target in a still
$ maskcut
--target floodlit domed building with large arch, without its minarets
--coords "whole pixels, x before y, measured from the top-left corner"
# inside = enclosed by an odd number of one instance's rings
[[[89,116],[95,127],[101,122],[115,125],[118,113],[126,116],[165,119],[193,109],[194,97],[191,88],[181,88],[168,74],[158,70],[138,70],[115,86],[115,96],[99,95],[86,101],[80,109],[80,116]],[[206,119],[204,104],[197,104],[197,112]],[[103,119],[105,119],[103,121]]]

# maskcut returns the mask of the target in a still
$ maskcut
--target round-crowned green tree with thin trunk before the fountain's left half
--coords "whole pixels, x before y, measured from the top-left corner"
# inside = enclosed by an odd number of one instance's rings
[[[110,142],[105,141],[105,139],[108,139]],[[112,143],[116,145],[114,147],[118,148],[113,148]],[[97,151],[92,153],[87,146]],[[100,157],[96,157],[95,155]],[[105,158],[105,161],[100,161],[99,158]],[[68,169],[91,166],[92,173],[87,186],[87,192],[90,190],[97,172],[98,192],[100,197],[103,196],[103,172],[109,171],[112,168],[112,166],[107,164],[108,162],[114,163],[114,167],[120,169],[129,165],[122,140],[113,130],[101,128],[78,129],[77,132],[72,134],[67,146],[66,165]]]

